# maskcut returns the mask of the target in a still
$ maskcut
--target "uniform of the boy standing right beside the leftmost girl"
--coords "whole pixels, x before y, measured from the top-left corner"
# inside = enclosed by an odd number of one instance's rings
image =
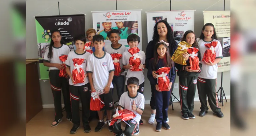
[[[67,67],[70,67],[70,72],[74,70],[73,58],[84,58],[84,62],[81,65],[82,69],[86,74],[86,65],[87,58],[90,55],[89,52],[84,52],[82,54],[77,53],[76,51],[72,51],[68,54],[67,58]],[[88,119],[90,116],[90,98],[91,98],[91,88],[88,77],[84,79],[84,83],[73,84],[72,79],[69,79],[70,85],[70,101],[72,106],[72,122],[74,126],[80,126],[80,114],[79,114],[79,100],[82,103],[82,122],[83,125],[88,125]]]

